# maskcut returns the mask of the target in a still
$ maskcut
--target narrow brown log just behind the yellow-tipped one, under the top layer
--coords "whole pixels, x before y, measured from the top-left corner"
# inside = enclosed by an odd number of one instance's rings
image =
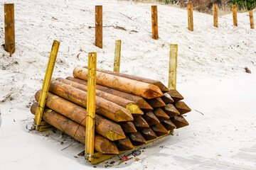
[[[75,81],[79,84],[83,84],[83,85],[87,86],[87,81],[84,81],[82,79],[76,79],[74,77],[67,77],[66,79],[68,79],[70,81]],[[113,94],[115,96],[125,98],[129,101],[134,101],[139,106],[139,108],[143,109],[143,111],[152,111],[153,110],[153,108],[151,108],[149,103],[146,103],[146,101],[140,96],[136,96],[134,94],[127,94],[123,91],[118,91],[118,90],[115,90],[115,89],[111,89],[109,87],[101,86],[99,84],[96,84],[96,89],[99,89],[101,91],[105,91],[108,94]]]

